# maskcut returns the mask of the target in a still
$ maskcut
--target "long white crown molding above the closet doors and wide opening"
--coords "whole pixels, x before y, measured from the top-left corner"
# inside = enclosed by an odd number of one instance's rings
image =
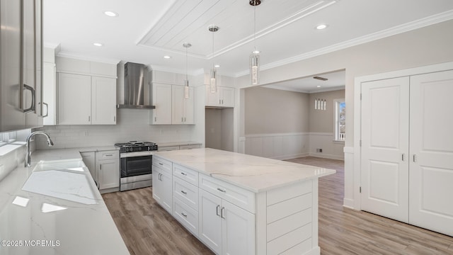
[[[288,57],[285,60],[280,60],[280,61],[272,62],[272,63],[269,63],[269,64],[263,64],[262,66],[260,66],[260,70],[267,70],[267,69],[272,69],[272,68],[275,68],[275,67],[281,67],[281,66],[283,66],[285,64],[291,64],[291,63],[294,63],[294,62],[307,60],[307,59],[309,59],[311,57],[316,57],[316,56],[328,54],[328,53],[331,53],[331,52],[336,52],[338,50],[344,50],[344,49],[346,49],[348,47],[361,45],[361,44],[364,44],[364,43],[367,43],[367,42],[372,42],[374,40],[379,40],[379,39],[382,39],[382,38],[387,38],[387,37],[390,37],[392,35],[398,35],[400,33],[405,33],[405,32],[408,32],[408,31],[411,31],[411,30],[415,30],[415,29],[418,29],[418,28],[424,28],[424,27],[431,26],[431,25],[434,25],[434,24],[437,24],[437,23],[441,23],[441,22],[444,22],[444,21],[449,21],[451,19],[453,19],[453,10],[445,11],[443,13],[438,13],[438,14],[435,14],[435,15],[432,15],[432,16],[429,16],[429,17],[426,17],[426,18],[420,18],[417,21],[411,21],[411,22],[408,22],[408,23],[401,24],[399,26],[394,26],[393,28],[381,30],[381,31],[376,32],[376,33],[371,33],[369,35],[364,35],[364,36],[361,36],[359,38],[354,38],[352,40],[347,40],[345,42],[340,42],[340,43],[337,43],[335,45],[331,45],[331,46],[328,46],[328,47],[323,47],[323,48],[321,48],[319,50],[306,52],[306,53],[304,53],[302,55],[297,55],[297,56],[294,56],[294,57]],[[242,77],[242,76],[245,76],[245,75],[248,75],[248,74],[249,74],[249,70],[244,70],[242,72],[237,72],[236,74],[234,74],[234,77]]]

